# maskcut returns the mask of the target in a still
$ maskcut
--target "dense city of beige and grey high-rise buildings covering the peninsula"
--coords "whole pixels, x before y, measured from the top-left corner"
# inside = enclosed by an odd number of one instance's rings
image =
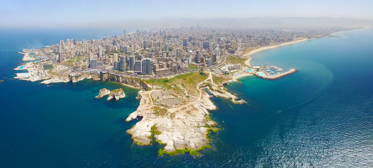
[[[329,30],[333,31],[333,30]],[[239,53],[243,48],[268,46],[298,37],[330,33],[327,30],[268,30],[184,28],[137,31],[97,40],[67,39],[51,46],[57,61],[75,62],[76,71],[105,69],[117,73],[164,75],[189,71],[189,66],[214,66],[222,56]]]

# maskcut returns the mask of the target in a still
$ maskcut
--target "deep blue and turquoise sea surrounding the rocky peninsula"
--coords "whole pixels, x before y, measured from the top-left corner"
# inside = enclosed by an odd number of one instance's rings
[[[256,76],[226,86],[248,103],[213,97],[222,131],[202,155],[158,156],[159,144],[137,146],[123,122],[137,89],[107,81],[51,83],[13,79],[25,47],[66,39],[121,35],[122,29],[0,30],[0,167],[371,168],[373,167],[373,31],[339,32],[264,50],[251,64],[298,71],[277,80]],[[129,32],[127,30],[127,32]],[[21,71],[22,72],[22,71]],[[119,101],[95,99],[123,88]]]

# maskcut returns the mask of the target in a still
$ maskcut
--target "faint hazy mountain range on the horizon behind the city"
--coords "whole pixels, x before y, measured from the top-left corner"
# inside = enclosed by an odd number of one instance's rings
[[[180,28],[189,29],[191,26],[201,27],[225,27],[225,28],[296,28],[296,27],[335,27],[335,26],[364,26],[373,25],[373,20],[355,18],[300,18],[300,17],[253,17],[244,19],[153,19],[153,20],[131,20],[118,22],[119,25],[149,28]],[[113,25],[114,26],[114,25]],[[115,26],[118,26],[116,24]]]

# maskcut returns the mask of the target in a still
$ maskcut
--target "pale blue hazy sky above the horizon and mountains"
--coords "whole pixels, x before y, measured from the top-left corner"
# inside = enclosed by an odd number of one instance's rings
[[[268,16],[373,19],[373,0],[2,0],[0,4],[0,27]]]

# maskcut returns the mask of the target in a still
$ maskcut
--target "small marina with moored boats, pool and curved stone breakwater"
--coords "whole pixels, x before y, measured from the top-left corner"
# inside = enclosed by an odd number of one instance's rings
[[[269,80],[275,80],[286,75],[297,72],[297,69],[290,69],[287,72],[283,72],[282,68],[277,66],[254,66],[244,70],[245,72],[252,73],[257,77]]]

